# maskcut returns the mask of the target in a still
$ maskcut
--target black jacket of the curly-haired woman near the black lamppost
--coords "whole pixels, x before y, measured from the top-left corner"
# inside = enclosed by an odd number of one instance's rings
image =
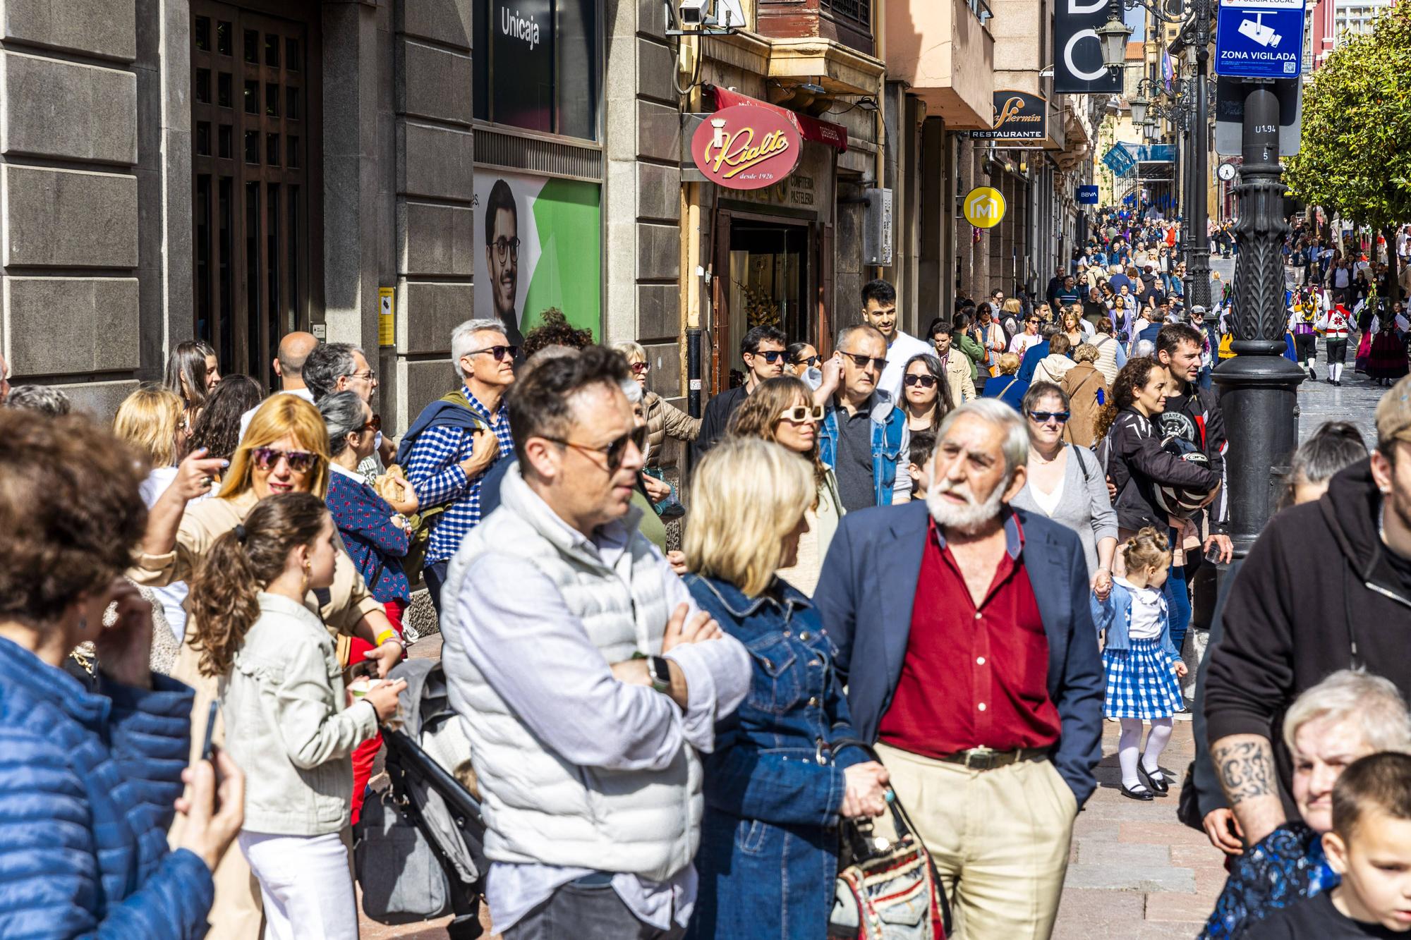
[[[1213,471],[1163,450],[1151,421],[1132,408],[1118,414],[1099,450],[1112,486],[1118,488],[1112,507],[1123,529],[1151,525],[1165,532],[1170,528],[1167,515],[1156,507],[1156,484],[1209,490],[1219,481]]]

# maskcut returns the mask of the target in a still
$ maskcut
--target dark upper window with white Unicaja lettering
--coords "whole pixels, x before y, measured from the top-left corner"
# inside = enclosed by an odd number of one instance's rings
[[[598,4],[484,0],[474,42],[487,51],[474,59],[477,119],[597,140]]]

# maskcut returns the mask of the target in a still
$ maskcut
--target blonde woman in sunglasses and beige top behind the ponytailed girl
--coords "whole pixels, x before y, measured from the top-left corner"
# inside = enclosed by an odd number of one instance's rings
[[[161,586],[190,580],[196,566],[217,538],[246,521],[251,510],[268,495],[312,493],[323,498],[329,487],[329,432],[319,409],[298,395],[272,395],[250,419],[240,447],[226,462],[193,452],[176,471],[175,481],[152,504],[147,532],[128,570],[138,584]],[[210,491],[210,474],[226,470],[220,494],[188,505]],[[374,600],[353,560],[339,545],[333,583],[322,593],[308,594],[308,604],[317,610],[330,631],[357,635],[373,644],[365,659],[374,661],[384,676],[404,651],[382,605]],[[322,601],[322,603],[320,603]],[[216,694],[216,679],[199,670],[200,651],[193,648],[190,631],[172,676],[196,690],[192,710],[192,749],[195,757],[206,731],[206,709]],[[217,718],[219,721],[219,718]],[[223,740],[217,724],[214,740]],[[246,936],[260,929],[260,900],[250,893],[250,872],[240,855],[227,855],[216,874],[216,913],[224,936]]]

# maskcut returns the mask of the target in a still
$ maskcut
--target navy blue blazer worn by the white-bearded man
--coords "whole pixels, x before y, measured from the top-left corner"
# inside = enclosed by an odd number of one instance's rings
[[[1054,766],[1082,806],[1102,759],[1106,689],[1098,631],[1088,604],[1088,563],[1078,534],[1041,515],[1015,510],[1024,531],[1022,560],[1048,635],[1048,697],[1061,733]],[[848,512],[828,546],[813,604],[838,645],[852,727],[869,742],[892,704],[912,632],[912,604],[921,573],[930,514],[924,502]],[[937,694],[944,694],[944,683]]]

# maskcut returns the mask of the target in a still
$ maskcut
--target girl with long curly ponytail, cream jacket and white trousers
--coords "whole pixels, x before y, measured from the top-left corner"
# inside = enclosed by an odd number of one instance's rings
[[[188,600],[200,673],[226,677],[226,749],[247,781],[240,851],[275,940],[357,936],[339,837],[353,797],[350,755],[406,687],[382,683],[346,707],[333,637],[305,604],[333,583],[336,546],[323,500],[267,497],[212,542]]]

